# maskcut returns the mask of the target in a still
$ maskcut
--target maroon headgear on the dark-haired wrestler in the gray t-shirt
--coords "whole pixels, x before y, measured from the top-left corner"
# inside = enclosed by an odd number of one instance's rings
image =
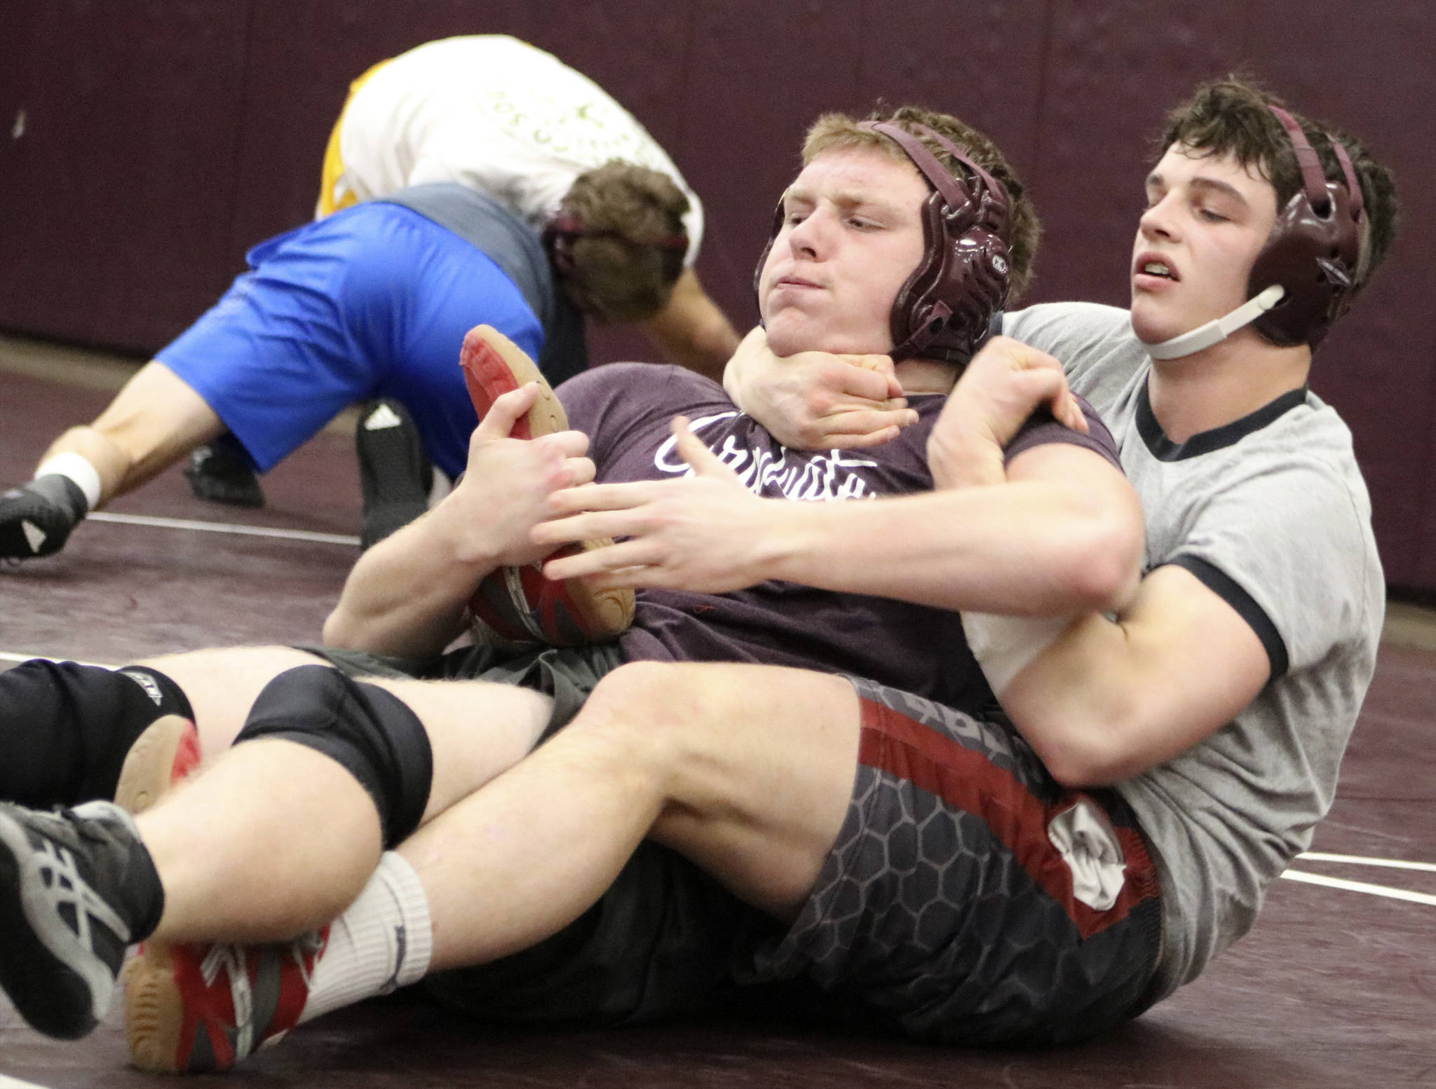
[[[1279,347],[1305,343],[1314,349],[1346,313],[1366,271],[1369,231],[1361,182],[1347,149],[1330,135],[1346,184],[1327,181],[1297,119],[1278,106],[1268,109],[1291,136],[1302,188],[1277,214],[1277,225],[1252,265],[1248,298],[1272,284],[1284,290],[1281,301],[1252,321],[1252,329]]]

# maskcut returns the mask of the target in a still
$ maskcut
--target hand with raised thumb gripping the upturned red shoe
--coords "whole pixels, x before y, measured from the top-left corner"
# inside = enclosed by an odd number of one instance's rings
[[[435,508],[455,535],[460,557],[494,565],[541,560],[550,550],[534,545],[530,531],[550,517],[549,496],[593,479],[593,462],[584,456],[589,439],[582,432],[508,438],[537,397],[538,383],[531,382],[494,402],[470,439],[464,478]]]

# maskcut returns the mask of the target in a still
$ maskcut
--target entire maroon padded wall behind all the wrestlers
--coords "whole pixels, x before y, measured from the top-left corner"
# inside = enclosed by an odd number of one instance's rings
[[[434,37],[511,33],[622,100],[704,197],[698,271],[744,327],[752,263],[823,109],[919,100],[972,121],[1047,225],[1028,301],[1123,303],[1150,139],[1198,80],[1242,69],[1367,139],[1404,231],[1323,347],[1390,581],[1436,590],[1436,13],[1338,0],[56,0],[6,4],[0,327],[148,353],[244,251],[313,212],[350,79]],[[23,112],[23,125],[20,115]],[[22,131],[23,129],[23,131]],[[649,354],[596,330],[600,359]]]

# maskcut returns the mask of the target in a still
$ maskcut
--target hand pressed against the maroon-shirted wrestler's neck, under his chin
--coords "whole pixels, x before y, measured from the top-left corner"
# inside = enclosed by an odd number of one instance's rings
[[[798,451],[879,446],[918,420],[887,356],[778,357],[761,329],[728,360],[724,389],[778,442]]]

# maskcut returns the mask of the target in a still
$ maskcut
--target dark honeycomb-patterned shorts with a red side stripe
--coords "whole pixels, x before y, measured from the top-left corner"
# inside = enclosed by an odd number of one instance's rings
[[[1146,1009],[1162,910],[1126,802],[1060,786],[1011,726],[854,686],[843,829],[798,920],[738,977],[806,979],[933,1043],[1067,1043]]]

